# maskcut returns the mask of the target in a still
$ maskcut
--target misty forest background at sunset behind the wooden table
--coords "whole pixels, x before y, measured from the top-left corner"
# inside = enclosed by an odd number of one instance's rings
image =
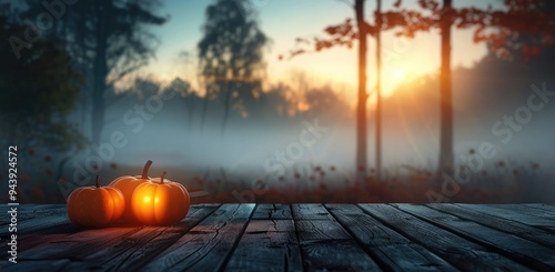
[[[555,201],[551,1],[341,2],[0,1],[0,180],[17,145],[22,202],[148,160],[198,202]]]

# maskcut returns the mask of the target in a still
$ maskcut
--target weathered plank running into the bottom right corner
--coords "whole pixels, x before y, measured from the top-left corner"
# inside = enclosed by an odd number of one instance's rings
[[[511,260],[535,270],[555,269],[555,250],[524,240],[515,235],[478,224],[474,221],[462,220],[424,205],[395,204],[398,209],[410,212],[430,223],[440,225],[456,233],[468,241],[483,244],[494,252],[501,252]]]

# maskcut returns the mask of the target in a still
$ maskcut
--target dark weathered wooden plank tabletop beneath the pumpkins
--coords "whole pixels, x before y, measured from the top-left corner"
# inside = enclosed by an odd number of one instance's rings
[[[555,271],[551,204],[203,204],[172,226],[100,230],[26,204],[17,264],[8,224],[2,271]]]

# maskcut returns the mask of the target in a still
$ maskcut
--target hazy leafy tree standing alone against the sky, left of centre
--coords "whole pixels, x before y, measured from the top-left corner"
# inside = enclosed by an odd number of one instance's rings
[[[206,20],[199,42],[199,73],[208,100],[223,104],[223,134],[232,109],[245,112],[243,101],[255,99],[261,91],[265,63],[263,49],[268,37],[259,29],[255,13],[245,0],[215,0],[206,8]],[[202,121],[203,122],[203,121]]]

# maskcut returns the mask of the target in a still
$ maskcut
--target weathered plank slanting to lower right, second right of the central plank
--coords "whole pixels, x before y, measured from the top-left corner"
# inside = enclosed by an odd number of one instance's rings
[[[381,265],[392,271],[457,271],[424,246],[352,204],[326,204],[332,215]]]

